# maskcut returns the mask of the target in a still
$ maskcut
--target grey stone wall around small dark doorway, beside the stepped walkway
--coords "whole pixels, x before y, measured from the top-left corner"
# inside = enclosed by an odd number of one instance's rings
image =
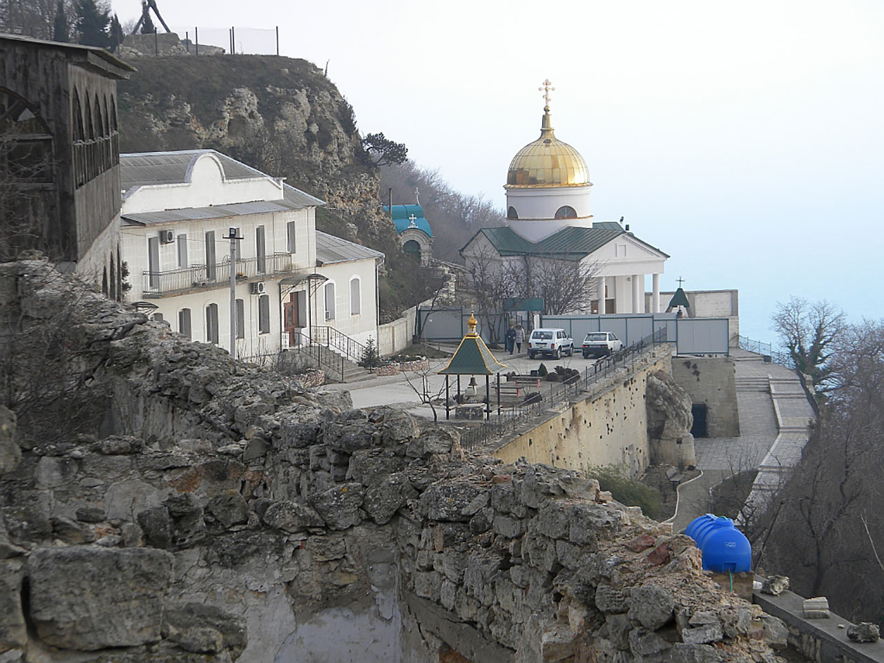
[[[710,438],[740,435],[736,403],[734,360],[730,357],[676,357],[672,361],[675,382],[694,403],[706,405],[706,432]]]

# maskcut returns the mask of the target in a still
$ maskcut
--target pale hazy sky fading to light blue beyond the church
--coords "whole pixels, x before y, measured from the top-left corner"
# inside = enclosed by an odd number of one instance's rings
[[[121,20],[140,12],[112,2]],[[556,136],[589,164],[594,216],[626,217],[672,255],[664,289],[679,276],[739,289],[741,331],[756,339],[773,339],[768,317],[790,294],[884,317],[878,0],[158,4],[201,42],[212,27],[278,25],[282,55],[328,62],[362,133],[405,142],[500,208],[510,160],[539,135],[548,77]],[[244,50],[274,47],[271,33],[240,35]]]

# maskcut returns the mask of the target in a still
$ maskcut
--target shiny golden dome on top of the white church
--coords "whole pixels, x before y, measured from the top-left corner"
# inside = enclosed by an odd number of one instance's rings
[[[509,164],[506,188],[589,187],[590,170],[580,152],[552,133],[550,107],[544,106],[540,138],[520,149]]]

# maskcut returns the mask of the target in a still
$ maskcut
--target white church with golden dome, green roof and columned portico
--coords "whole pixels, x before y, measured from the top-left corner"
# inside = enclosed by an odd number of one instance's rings
[[[540,137],[516,152],[509,164],[507,225],[483,228],[461,248],[467,268],[530,274],[531,263],[536,263],[530,287],[538,292],[527,294],[538,296],[544,289],[536,283],[538,273],[561,272],[548,269],[549,263],[572,263],[575,271],[591,274],[583,279],[589,292],[576,298],[575,310],[557,312],[658,313],[659,277],[669,256],[638,239],[629,225],[593,219],[586,161],[552,129],[549,93],[554,89],[544,81]],[[544,263],[547,269],[539,269]]]

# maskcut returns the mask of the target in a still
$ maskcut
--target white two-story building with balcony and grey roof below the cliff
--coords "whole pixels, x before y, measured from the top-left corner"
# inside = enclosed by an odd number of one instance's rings
[[[126,300],[154,319],[244,358],[377,339],[384,255],[317,232],[324,202],[211,149],[120,155],[120,180]]]

